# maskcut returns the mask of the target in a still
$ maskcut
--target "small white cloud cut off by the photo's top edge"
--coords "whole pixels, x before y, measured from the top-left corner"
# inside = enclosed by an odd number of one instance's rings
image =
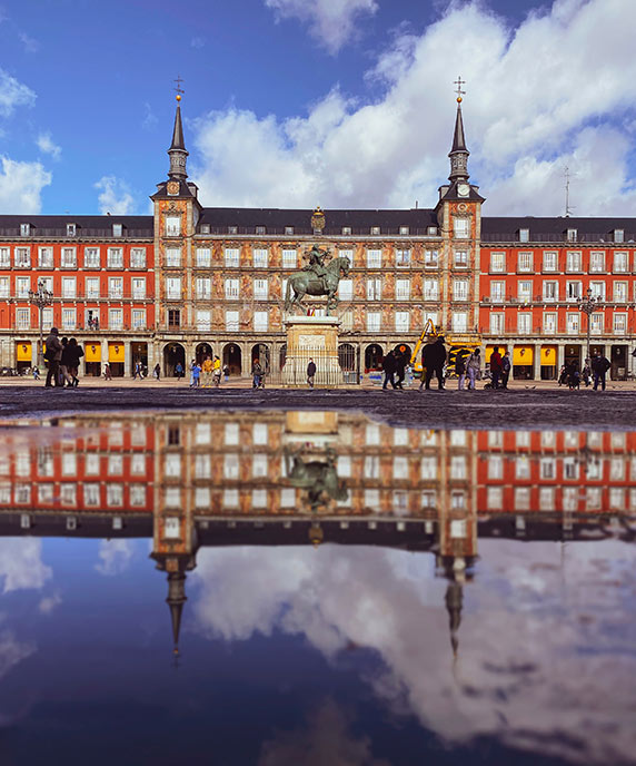
[[[356,36],[359,19],[378,10],[376,0],[265,0],[277,20],[299,19],[330,53]]]

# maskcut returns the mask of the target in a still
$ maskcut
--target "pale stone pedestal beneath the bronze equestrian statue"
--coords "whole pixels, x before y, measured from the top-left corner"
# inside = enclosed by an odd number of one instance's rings
[[[290,316],[287,328],[287,356],[282,383],[290,387],[307,387],[307,365],[316,364],[314,385],[336,389],[344,385],[338,361],[338,327],[335,316]]]

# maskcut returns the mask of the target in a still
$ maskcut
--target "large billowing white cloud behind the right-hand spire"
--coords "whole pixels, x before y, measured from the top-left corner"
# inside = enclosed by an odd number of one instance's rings
[[[270,6],[289,14],[300,1]],[[566,164],[577,215],[632,212],[635,26],[636,3],[624,0],[556,0],[516,29],[479,2],[453,3],[424,32],[394,36],[369,69],[366,102],[335,88],[306,116],[231,107],[196,120],[192,175],[210,205],[433,206],[448,174],[461,73],[485,215],[563,214]]]

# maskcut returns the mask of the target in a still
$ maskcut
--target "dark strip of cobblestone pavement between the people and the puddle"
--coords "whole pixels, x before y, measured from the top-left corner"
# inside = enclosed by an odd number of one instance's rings
[[[120,385],[96,381],[79,389],[43,385],[0,386],[0,418],[37,418],[53,413],[129,412],[131,410],[356,410],[394,425],[464,429],[636,430],[636,391],[594,392],[515,387],[510,391],[370,389],[252,391],[245,387],[192,390],[187,384]]]

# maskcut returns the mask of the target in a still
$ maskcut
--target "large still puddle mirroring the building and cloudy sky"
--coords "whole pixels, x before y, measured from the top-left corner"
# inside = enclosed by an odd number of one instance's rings
[[[0,429],[8,763],[633,763],[636,433]]]

